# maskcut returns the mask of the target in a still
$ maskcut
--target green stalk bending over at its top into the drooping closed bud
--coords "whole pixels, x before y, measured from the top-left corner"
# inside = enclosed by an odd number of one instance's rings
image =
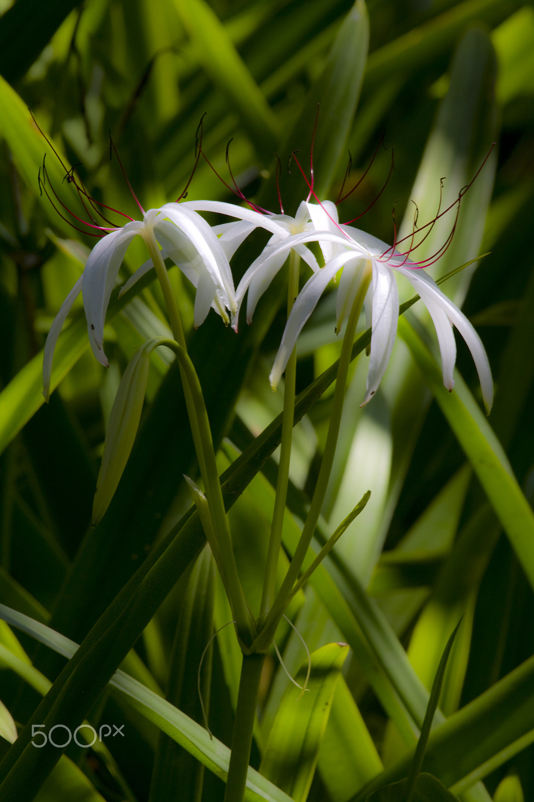
[[[192,399],[192,407],[195,410],[196,426],[199,432],[199,445],[204,455],[204,472],[202,479],[206,488],[206,497],[209,505],[209,512],[212,516],[213,529],[216,533],[217,545],[220,557],[220,573],[225,577],[225,587],[229,590],[229,602],[232,606],[233,615],[237,623],[237,632],[245,647],[250,646],[255,634],[255,622],[245,599],[245,593],[237,574],[237,565],[233,555],[232,538],[226,517],[225,502],[220,489],[219,472],[215,461],[215,449],[213,448],[212,433],[209,428],[208,413],[204,404],[204,396],[195,367],[188,356],[187,351],[173,340],[162,340],[160,345],[171,348],[180,362],[180,369],[184,376],[184,389],[187,387],[188,394]],[[215,556],[215,555],[214,555]]]

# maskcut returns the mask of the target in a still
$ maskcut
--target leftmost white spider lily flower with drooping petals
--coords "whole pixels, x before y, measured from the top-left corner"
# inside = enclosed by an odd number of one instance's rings
[[[50,395],[55,345],[71,306],[80,292],[83,293],[91,349],[99,362],[107,367],[107,358],[103,351],[104,320],[120,265],[134,237],[143,237],[156,249],[161,245],[161,256],[168,256],[175,261],[196,286],[196,326],[204,321],[210,306],[215,308],[225,322],[229,322],[226,310],[232,316],[237,313],[233,278],[225,248],[204,218],[191,209],[184,208],[184,204],[168,203],[160,209],[149,209],[144,213],[142,221],[134,220],[122,228],[101,230],[109,233],[97,242],[89,254],[83,275],[67,295],[47,337],[42,363],[45,399]],[[123,291],[129,289],[152,267],[151,260],[145,262],[123,287]]]

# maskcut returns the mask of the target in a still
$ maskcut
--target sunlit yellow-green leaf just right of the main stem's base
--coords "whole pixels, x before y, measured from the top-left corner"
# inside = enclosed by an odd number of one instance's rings
[[[269,732],[260,772],[295,802],[304,802],[314,779],[318,751],[324,735],[339,672],[349,647],[331,643],[311,655],[308,691],[298,695],[290,685]],[[297,675],[305,681],[307,666]]]

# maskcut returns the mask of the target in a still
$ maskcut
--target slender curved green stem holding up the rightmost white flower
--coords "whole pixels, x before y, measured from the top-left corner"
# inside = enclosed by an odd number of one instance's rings
[[[306,552],[308,551],[309,543],[314,534],[319,515],[321,514],[322,503],[325,498],[328,480],[330,479],[330,472],[332,470],[332,465],[334,464],[336,445],[338,444],[339,425],[341,423],[343,399],[346,388],[346,377],[349,371],[352,344],[356,334],[358,318],[360,316],[360,312],[362,311],[363,300],[366,297],[366,292],[369,288],[371,277],[371,265],[370,262],[367,262],[362,275],[362,281],[360,282],[358,292],[356,293],[350,310],[349,320],[346,324],[346,331],[343,337],[342,352],[339,357],[338,375],[336,378],[332,411],[330,413],[330,424],[328,427],[328,434],[326,435],[325,452],[322,456],[322,463],[321,468],[319,469],[317,484],[315,485],[314,496],[309,507],[308,516],[306,517],[305,524],[302,529],[300,540],[298,541],[297,549],[295,549],[295,553],[293,554],[293,560],[289,565],[288,572],[285,574],[285,579],[281,584],[281,588],[277,593],[277,597],[273,602],[273,606],[271,607],[271,610],[265,619],[265,624],[256,640],[253,642],[253,650],[265,651],[269,648],[281,616],[284,613],[285,607],[287,606],[287,603],[291,597],[293,585],[295,584],[295,581],[297,581],[298,573],[305,559]]]

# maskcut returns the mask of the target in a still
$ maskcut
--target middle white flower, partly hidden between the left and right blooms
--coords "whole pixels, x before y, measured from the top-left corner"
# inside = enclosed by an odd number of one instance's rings
[[[233,316],[232,321],[232,325],[236,330],[239,310],[247,290],[247,322],[250,323],[258,300],[265,290],[267,290],[278,270],[284,265],[291,249],[297,251],[301,259],[309,265],[314,273],[318,272],[318,261],[305,245],[306,242],[310,241],[306,236],[310,234],[313,235],[316,231],[326,233],[326,238],[315,237],[322,249],[325,262],[329,261],[335,253],[338,253],[338,237],[334,238],[334,240],[328,238],[329,234],[339,233],[338,211],[335,205],[330,201],[324,201],[321,205],[302,201],[297,209],[295,217],[290,217],[286,214],[261,213],[255,209],[245,209],[241,206],[220,201],[186,201],[186,203],[182,205],[187,205],[189,209],[194,209],[196,211],[218,212],[220,214],[226,214],[229,217],[240,218],[240,220],[235,223],[227,223],[216,227],[219,230],[224,230],[227,235],[230,235],[233,231],[233,227],[243,226],[245,223],[249,223],[249,231],[241,238],[241,241],[245,239],[245,236],[247,236],[253,228],[266,229],[273,235],[260,256],[257,257],[252,265],[249,266],[249,269],[246,270],[245,275],[241,278],[241,282],[239,282],[237,286],[237,314]],[[245,231],[244,228],[237,230],[240,233]],[[305,234],[306,236],[303,240],[299,241],[295,238],[297,234]],[[289,240],[290,237],[293,238]],[[241,241],[239,241],[237,245],[240,245]],[[233,252],[237,249],[237,245],[233,249]]]

